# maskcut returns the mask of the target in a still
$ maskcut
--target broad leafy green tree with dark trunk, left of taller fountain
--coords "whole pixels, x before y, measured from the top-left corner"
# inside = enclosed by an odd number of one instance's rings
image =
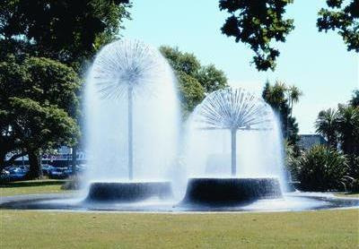
[[[23,61],[9,58],[0,63],[0,155],[15,149],[29,155],[31,177],[41,175],[39,151],[60,144],[73,145],[78,135],[74,117],[78,111],[75,95],[80,79],[65,64],[47,58]],[[3,158],[4,159],[4,158]]]

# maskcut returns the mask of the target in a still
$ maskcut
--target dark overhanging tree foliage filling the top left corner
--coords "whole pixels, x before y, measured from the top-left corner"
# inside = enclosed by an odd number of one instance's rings
[[[3,0],[0,44],[7,53],[54,58],[78,69],[115,38],[130,5],[126,0]]]

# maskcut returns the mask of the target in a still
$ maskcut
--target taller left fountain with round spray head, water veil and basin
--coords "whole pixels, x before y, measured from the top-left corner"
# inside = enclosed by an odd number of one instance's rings
[[[179,111],[171,67],[158,50],[128,40],[103,47],[86,104],[87,200],[171,197],[166,174],[176,154]]]

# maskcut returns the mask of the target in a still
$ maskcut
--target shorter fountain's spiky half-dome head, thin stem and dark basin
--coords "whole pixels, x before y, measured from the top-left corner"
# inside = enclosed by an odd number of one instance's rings
[[[195,130],[223,130],[231,133],[231,177],[194,177],[188,180],[183,203],[227,205],[282,196],[276,177],[237,176],[237,132],[264,133],[274,126],[271,107],[247,90],[215,90],[193,114]]]

